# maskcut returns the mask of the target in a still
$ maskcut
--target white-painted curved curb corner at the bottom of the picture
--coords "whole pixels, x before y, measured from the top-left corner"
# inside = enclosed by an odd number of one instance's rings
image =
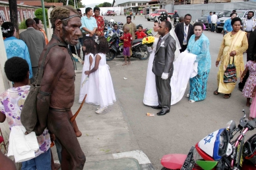
[[[137,159],[142,170],[155,170],[152,163],[141,150],[133,150],[130,152],[122,152],[118,154],[112,154],[114,159],[120,158],[134,158]]]

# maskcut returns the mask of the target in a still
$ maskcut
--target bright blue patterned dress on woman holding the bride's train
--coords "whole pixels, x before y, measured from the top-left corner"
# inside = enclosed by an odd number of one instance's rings
[[[189,100],[200,101],[207,96],[207,79],[211,66],[209,45],[209,40],[203,33],[197,41],[195,34],[189,39],[187,51],[197,55],[196,62],[198,62],[197,75],[189,79]]]

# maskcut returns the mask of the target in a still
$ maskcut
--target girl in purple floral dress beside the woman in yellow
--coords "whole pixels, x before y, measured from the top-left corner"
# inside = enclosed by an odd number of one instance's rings
[[[248,61],[245,65],[245,70],[241,75],[240,81],[243,81],[243,76],[249,71],[249,77],[243,87],[242,95],[247,97],[246,106],[250,106],[250,99],[253,97],[253,88],[256,85],[256,56],[253,56],[253,61]]]

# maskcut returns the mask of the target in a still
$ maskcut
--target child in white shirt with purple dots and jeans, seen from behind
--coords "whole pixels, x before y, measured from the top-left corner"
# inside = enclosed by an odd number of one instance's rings
[[[0,94],[0,122],[7,119],[11,129],[22,125],[20,113],[30,91],[28,63],[17,56],[9,58],[5,62],[5,74],[13,81],[13,87]],[[36,158],[23,161],[21,169],[51,170],[51,140],[48,129],[44,129],[44,133],[36,138],[39,145],[39,150],[35,152]]]

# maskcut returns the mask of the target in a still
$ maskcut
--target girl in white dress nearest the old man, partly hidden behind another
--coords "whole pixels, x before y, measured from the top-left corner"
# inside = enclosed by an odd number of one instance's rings
[[[85,75],[86,70],[91,70],[94,67],[95,41],[93,39],[86,39],[82,45],[82,50],[85,51],[84,66],[82,67],[82,78],[80,85],[79,103],[82,102],[88,89],[88,75]]]

